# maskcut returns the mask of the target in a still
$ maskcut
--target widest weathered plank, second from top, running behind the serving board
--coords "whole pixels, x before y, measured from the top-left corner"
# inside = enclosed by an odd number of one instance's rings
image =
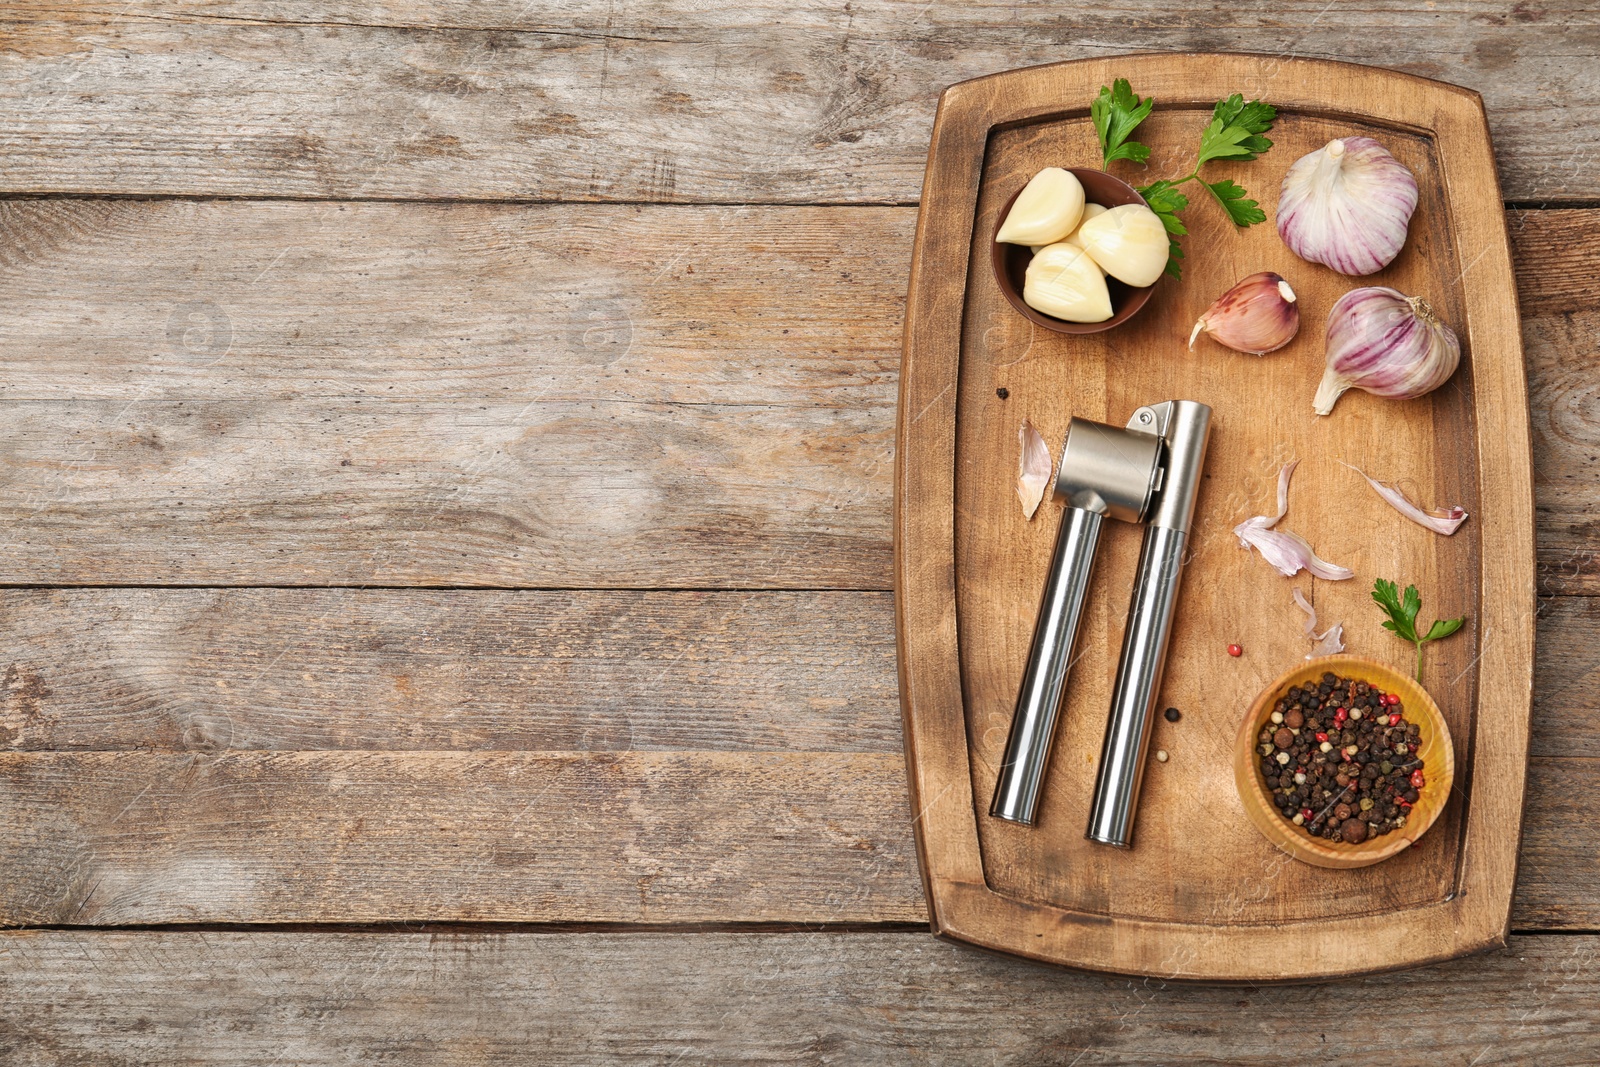
[[[0,205],[0,581],[886,589],[914,219]],[[1510,221],[1544,587],[1595,593],[1600,213]]]

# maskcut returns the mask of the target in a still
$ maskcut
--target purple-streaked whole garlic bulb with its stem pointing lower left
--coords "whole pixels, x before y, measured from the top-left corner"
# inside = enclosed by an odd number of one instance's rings
[[[1328,370],[1312,406],[1328,414],[1346,389],[1410,400],[1443,386],[1461,363],[1456,331],[1419,296],[1350,290],[1328,312]]]

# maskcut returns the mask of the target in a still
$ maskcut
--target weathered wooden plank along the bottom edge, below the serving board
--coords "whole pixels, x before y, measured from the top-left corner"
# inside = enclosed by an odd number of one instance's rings
[[[0,1051],[29,1067],[1576,1067],[1600,1057],[1597,957],[1597,937],[1514,937],[1406,974],[1250,990],[1074,974],[914,931],[38,931],[0,937]]]

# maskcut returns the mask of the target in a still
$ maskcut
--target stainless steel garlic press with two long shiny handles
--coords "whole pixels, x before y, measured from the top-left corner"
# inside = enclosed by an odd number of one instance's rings
[[[1067,427],[1054,486],[1054,498],[1066,504],[1066,510],[1038,603],[1034,645],[1016,696],[990,816],[1026,825],[1034,825],[1037,819],[1101,522],[1110,515],[1146,523],[1146,530],[1106,721],[1088,837],[1118,848],[1133,843],[1133,816],[1182,576],[1184,539],[1194,517],[1210,432],[1211,408],[1194,400],[1139,408],[1125,429],[1088,419],[1072,419]]]

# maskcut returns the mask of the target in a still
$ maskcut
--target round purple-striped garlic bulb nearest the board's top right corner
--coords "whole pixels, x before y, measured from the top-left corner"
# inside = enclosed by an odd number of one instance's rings
[[[1405,246],[1416,178],[1371,138],[1334,138],[1294,162],[1278,197],[1278,237],[1301,259],[1362,275]]]

